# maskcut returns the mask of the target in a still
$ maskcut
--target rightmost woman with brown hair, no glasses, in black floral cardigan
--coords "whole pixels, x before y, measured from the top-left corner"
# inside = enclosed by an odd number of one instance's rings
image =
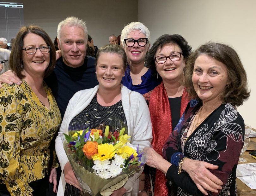
[[[187,59],[184,76],[192,100],[163,147],[166,160],[148,148],[147,164],[166,174],[178,196],[237,195],[235,174],[245,127],[235,106],[250,94],[239,56],[228,45],[204,44]],[[217,168],[207,170],[207,164]],[[202,182],[194,178],[199,169],[206,174]]]

